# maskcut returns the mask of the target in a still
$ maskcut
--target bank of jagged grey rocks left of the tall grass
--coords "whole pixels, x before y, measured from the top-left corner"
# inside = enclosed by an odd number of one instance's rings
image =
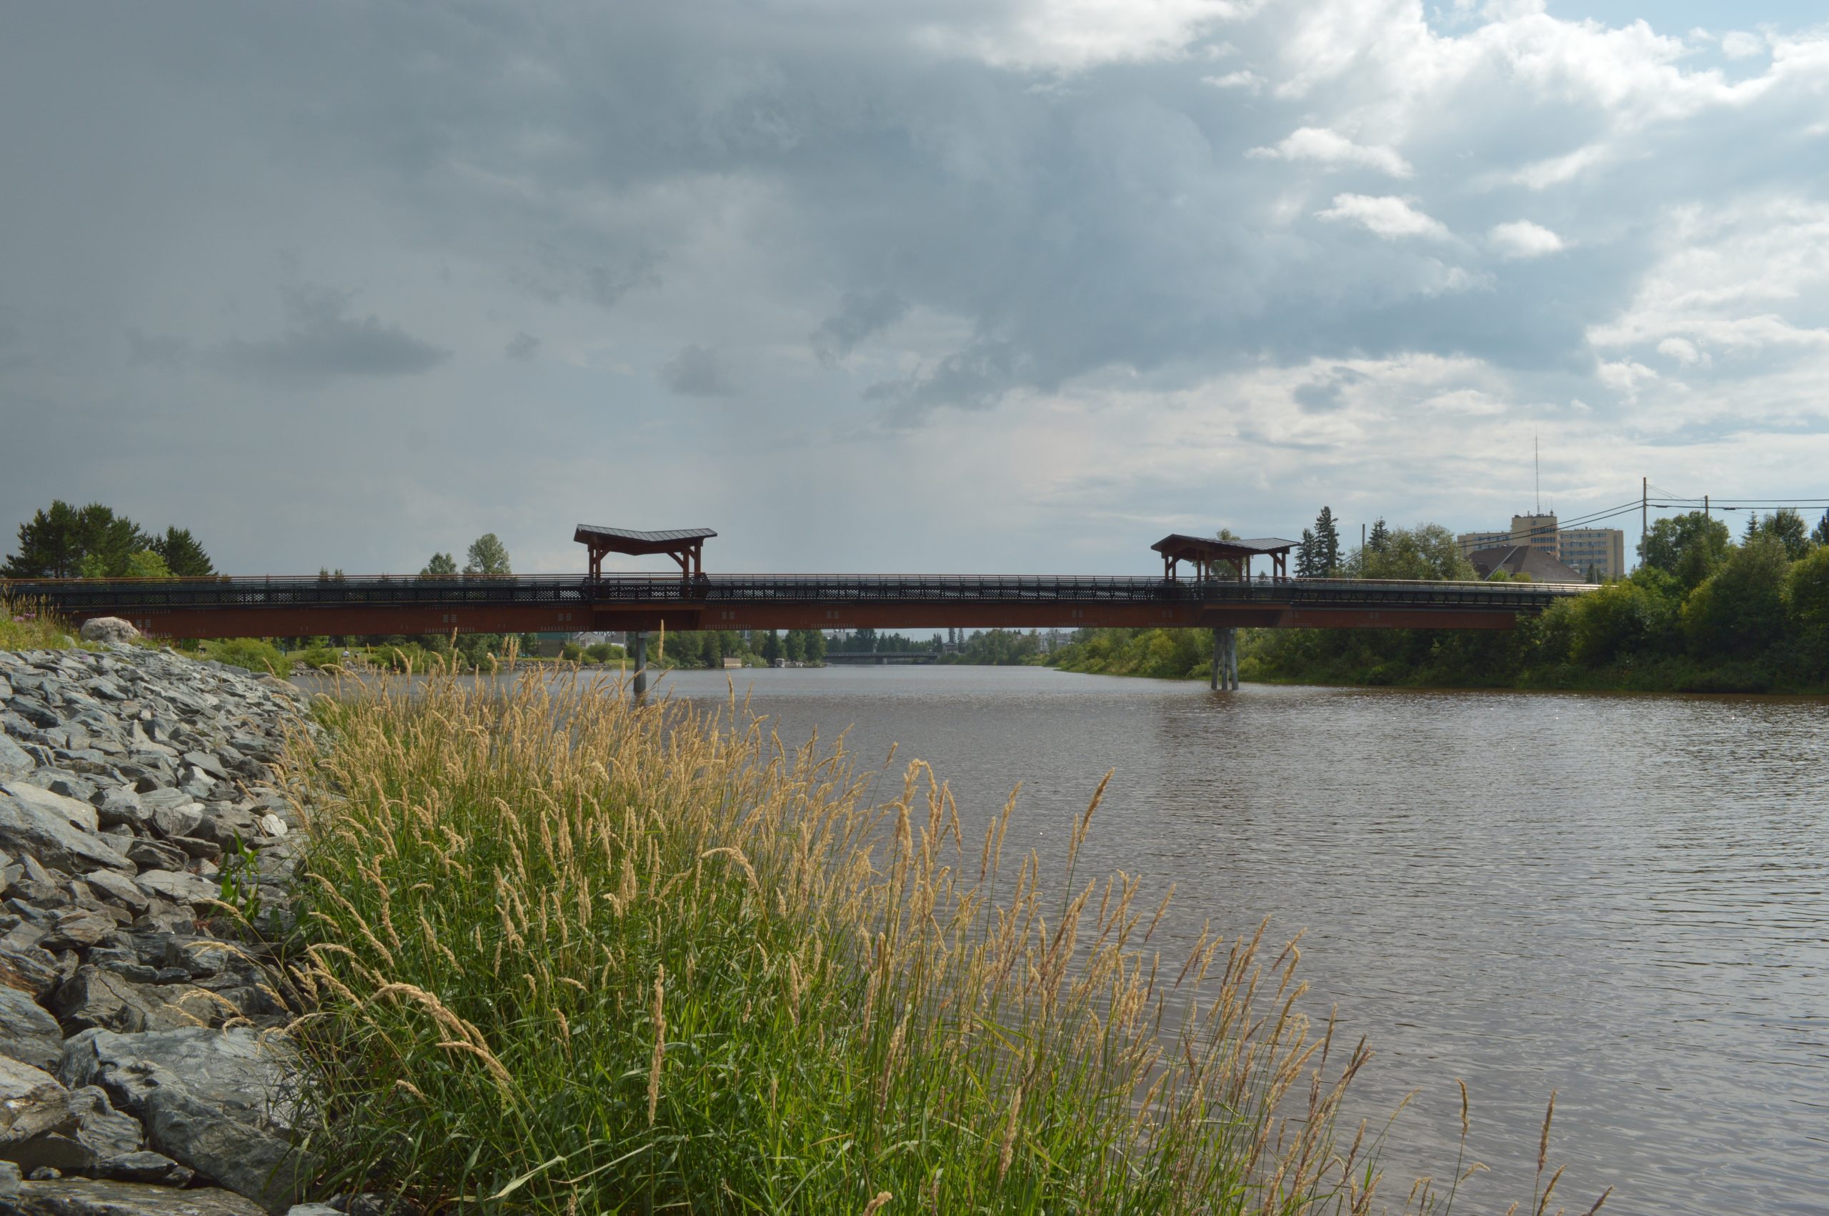
[[[289,925],[302,708],[172,651],[0,651],[0,1216],[349,1207],[298,1205],[300,1009],[247,925]]]

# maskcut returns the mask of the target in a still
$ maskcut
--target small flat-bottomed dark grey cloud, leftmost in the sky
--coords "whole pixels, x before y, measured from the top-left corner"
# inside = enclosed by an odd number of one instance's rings
[[[355,316],[348,294],[324,287],[289,287],[285,315],[291,325],[273,338],[225,344],[223,366],[274,380],[326,380],[419,375],[450,358],[399,325]]]

